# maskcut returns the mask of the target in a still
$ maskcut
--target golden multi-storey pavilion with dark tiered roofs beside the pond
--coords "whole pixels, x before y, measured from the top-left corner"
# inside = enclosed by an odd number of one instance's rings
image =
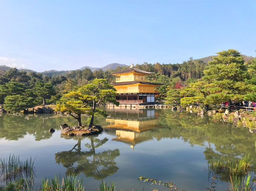
[[[116,76],[116,82],[111,83],[111,85],[116,88],[117,94],[119,94],[116,96],[116,101],[120,104],[152,104],[155,102],[155,96],[159,94],[155,87],[163,85],[148,82],[145,76],[152,74],[152,72],[134,68],[133,64],[130,68],[112,74]]]

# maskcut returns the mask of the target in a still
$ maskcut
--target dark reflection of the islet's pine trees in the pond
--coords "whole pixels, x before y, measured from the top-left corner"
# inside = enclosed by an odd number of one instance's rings
[[[76,139],[76,138],[74,138]],[[55,161],[67,168],[66,174],[80,174],[87,177],[94,177],[96,180],[102,180],[119,169],[114,161],[119,156],[119,149],[96,152],[96,148],[104,145],[108,139],[99,140],[96,137],[87,137],[90,144],[85,146],[89,151],[82,151],[81,140],[77,138],[78,143],[70,151],[62,151],[55,154]]]

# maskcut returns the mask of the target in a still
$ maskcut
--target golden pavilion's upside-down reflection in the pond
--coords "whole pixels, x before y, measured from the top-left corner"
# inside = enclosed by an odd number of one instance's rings
[[[128,143],[133,149],[138,143],[152,140],[151,129],[157,126],[158,113],[154,109],[113,109],[109,110],[109,125],[105,128],[116,130],[116,138],[113,140]]]

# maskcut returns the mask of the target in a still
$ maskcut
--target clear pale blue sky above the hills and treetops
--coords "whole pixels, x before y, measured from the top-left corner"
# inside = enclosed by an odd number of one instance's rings
[[[0,0],[0,65],[72,70],[256,56],[256,0]]]

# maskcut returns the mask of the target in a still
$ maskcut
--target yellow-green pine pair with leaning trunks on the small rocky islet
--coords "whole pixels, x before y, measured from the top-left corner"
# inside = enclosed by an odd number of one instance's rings
[[[92,127],[94,114],[106,115],[102,110],[96,108],[102,103],[114,103],[116,89],[111,86],[106,79],[94,79],[86,86],[78,88],[77,91],[70,91],[61,98],[61,103],[56,106],[57,111],[68,112],[78,121],[81,126],[81,114],[91,116],[89,127]]]

